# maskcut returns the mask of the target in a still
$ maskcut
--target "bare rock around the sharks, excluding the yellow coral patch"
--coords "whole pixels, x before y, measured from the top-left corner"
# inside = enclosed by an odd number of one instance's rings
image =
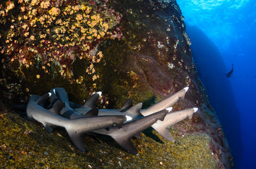
[[[107,108],[120,108],[127,98],[133,97],[134,103],[143,102],[146,108],[189,86],[185,99],[178,101],[173,111],[190,107],[198,107],[199,111],[192,120],[185,119],[170,127],[174,143],[165,142],[149,128],[141,139],[132,139],[138,156],[127,154],[112,139],[103,136],[85,136],[86,153],[82,154],[74,149],[62,130],[49,134],[40,124],[10,111],[3,96],[0,166],[232,168],[221,125],[197,78],[185,23],[176,2],[109,1],[107,6],[122,14],[118,27],[124,38],[109,39],[98,46],[104,54],[95,65],[98,80],[69,84],[59,76],[45,75],[40,81],[23,81],[21,88],[25,91],[28,87],[31,94],[42,94],[54,87],[64,87],[71,100],[82,103],[95,83],[94,90],[103,92],[99,106],[108,101]],[[76,61],[74,66],[74,73],[84,69]],[[4,94],[8,93],[7,88],[3,89]],[[26,94],[19,96],[23,99]]]

